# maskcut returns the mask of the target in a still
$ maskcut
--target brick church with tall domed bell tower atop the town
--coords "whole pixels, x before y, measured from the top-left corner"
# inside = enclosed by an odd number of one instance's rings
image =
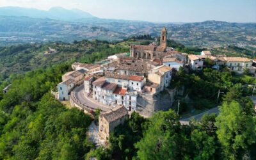
[[[151,60],[159,58],[166,53],[167,47],[167,30],[164,27],[161,31],[160,45],[131,45],[130,55],[134,58]]]

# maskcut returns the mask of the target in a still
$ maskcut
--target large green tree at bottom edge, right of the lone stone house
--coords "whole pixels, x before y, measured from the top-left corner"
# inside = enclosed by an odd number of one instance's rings
[[[178,156],[179,116],[174,111],[159,111],[152,116],[143,138],[136,143],[140,159],[175,159]]]

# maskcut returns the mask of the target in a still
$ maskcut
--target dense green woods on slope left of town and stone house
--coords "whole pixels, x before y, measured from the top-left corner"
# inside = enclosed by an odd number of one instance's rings
[[[82,159],[93,147],[86,139],[92,118],[49,93],[68,65],[13,79],[0,101],[0,159]]]

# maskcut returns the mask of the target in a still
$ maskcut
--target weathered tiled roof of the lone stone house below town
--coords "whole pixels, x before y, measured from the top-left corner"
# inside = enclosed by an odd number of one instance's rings
[[[127,109],[124,106],[116,106],[115,108],[102,113],[103,116],[109,123],[115,122],[116,120],[126,116],[128,114]]]

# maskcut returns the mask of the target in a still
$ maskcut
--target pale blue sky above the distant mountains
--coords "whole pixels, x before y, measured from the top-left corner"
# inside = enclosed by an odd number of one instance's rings
[[[256,22],[256,0],[0,0],[0,6],[61,6],[99,18],[150,22]]]

